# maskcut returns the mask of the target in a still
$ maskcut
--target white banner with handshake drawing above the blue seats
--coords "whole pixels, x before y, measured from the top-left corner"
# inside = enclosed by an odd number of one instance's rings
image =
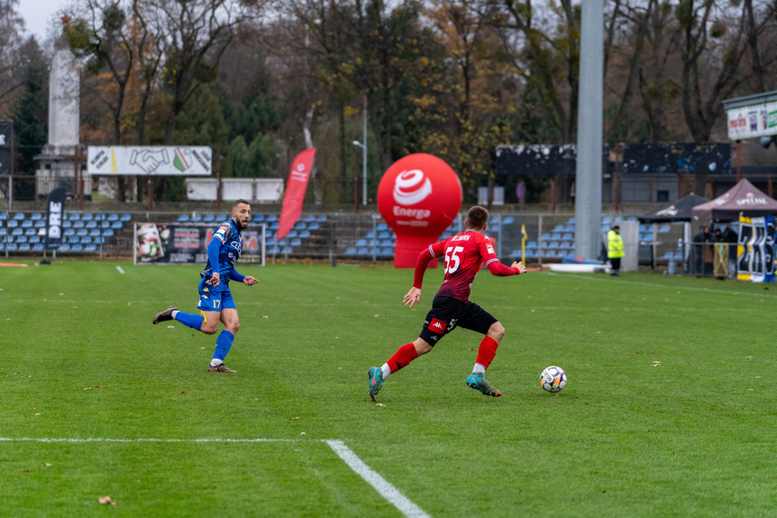
[[[89,174],[208,175],[213,151],[207,145],[90,145]]]

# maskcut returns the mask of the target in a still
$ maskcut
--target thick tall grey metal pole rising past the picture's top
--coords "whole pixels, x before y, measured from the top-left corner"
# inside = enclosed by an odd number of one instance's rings
[[[602,223],[603,4],[583,2],[581,18],[574,247],[587,259],[599,255]]]

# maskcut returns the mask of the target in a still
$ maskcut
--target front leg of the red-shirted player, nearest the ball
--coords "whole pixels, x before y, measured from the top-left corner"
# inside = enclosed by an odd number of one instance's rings
[[[496,349],[499,347],[499,343],[502,342],[504,326],[492,314],[474,303],[467,304],[467,311],[459,321],[459,325],[465,329],[485,334],[478,347],[473,372],[467,377],[467,386],[485,395],[496,397],[502,395],[485,379],[485,370],[493,362]]]

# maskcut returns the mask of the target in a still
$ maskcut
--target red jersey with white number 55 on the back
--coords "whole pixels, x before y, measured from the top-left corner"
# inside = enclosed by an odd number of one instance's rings
[[[470,291],[475,276],[480,272],[483,263],[494,275],[517,275],[517,268],[505,266],[493,252],[491,240],[479,232],[467,230],[430,244],[428,250],[418,255],[415,264],[413,286],[421,289],[423,274],[432,259],[444,258],[445,278],[443,285],[437,291],[438,295],[452,297],[463,302],[469,300]]]

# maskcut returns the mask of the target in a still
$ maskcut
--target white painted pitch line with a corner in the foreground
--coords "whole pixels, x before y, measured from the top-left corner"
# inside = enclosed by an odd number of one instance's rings
[[[364,463],[356,453],[345,445],[344,441],[338,439],[113,439],[106,437],[77,439],[67,437],[0,437],[0,443],[325,443],[354,473],[362,477],[364,482],[369,483],[378,494],[396,507],[400,513],[413,518],[429,516],[396,487],[385,480],[380,473],[375,472],[374,469]]]

